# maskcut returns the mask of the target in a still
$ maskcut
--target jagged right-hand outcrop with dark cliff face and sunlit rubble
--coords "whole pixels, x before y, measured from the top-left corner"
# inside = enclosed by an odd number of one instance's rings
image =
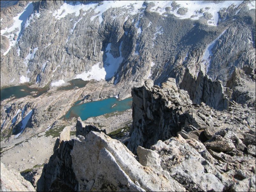
[[[159,167],[160,162],[188,191],[255,188],[251,180],[255,174],[252,107],[230,101],[227,110],[217,111],[205,103],[192,103],[171,78],[162,88],[146,81],[133,88],[132,95],[133,122],[127,146],[142,157],[142,164],[154,162]],[[145,155],[141,147],[157,154]]]

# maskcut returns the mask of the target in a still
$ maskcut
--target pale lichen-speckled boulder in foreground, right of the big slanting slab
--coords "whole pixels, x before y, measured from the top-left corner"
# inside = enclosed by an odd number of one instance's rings
[[[192,146],[177,138],[151,147],[159,154],[163,170],[188,191],[222,191],[222,175]],[[204,182],[202,182],[204,181]]]

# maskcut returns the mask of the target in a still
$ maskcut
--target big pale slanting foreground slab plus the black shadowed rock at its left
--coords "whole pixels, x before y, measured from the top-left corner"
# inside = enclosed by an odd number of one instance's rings
[[[41,179],[45,191],[185,191],[160,163],[150,165],[141,165],[121,142],[91,131],[83,140],[64,141]]]

